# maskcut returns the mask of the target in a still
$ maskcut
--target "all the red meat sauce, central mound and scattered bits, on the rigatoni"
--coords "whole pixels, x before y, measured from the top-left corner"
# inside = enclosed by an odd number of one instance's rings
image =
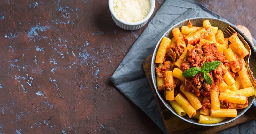
[[[156,74],[159,77],[165,77],[166,71],[173,71],[174,62],[180,57],[183,50],[179,50],[177,48],[176,43],[172,43],[172,45],[167,49],[165,55],[165,61],[171,61],[172,66],[167,67],[167,65],[163,65],[162,68],[156,67]],[[209,63],[212,61],[221,61],[222,64],[226,67],[227,71],[235,78],[235,73],[232,72],[230,66],[233,64],[239,64],[242,68],[242,61],[237,57],[236,63],[228,62],[227,58],[221,53],[216,47],[215,43],[204,43],[203,45],[195,44],[192,49],[187,51],[186,57],[183,59],[183,63],[181,64],[181,70],[185,71],[190,69],[191,67],[199,67],[201,68],[204,62]],[[168,65],[169,66],[169,65]],[[187,91],[191,91],[196,96],[208,96],[210,95],[211,89],[217,86],[221,81],[224,80],[224,75],[226,73],[226,69],[222,68],[220,64],[216,69],[210,71],[208,74],[212,78],[212,85],[208,84],[203,77],[202,73],[197,73],[193,77],[185,77],[184,80],[184,88]],[[175,88],[175,94],[181,93],[179,91],[179,87],[182,83],[176,83],[174,80],[174,85],[172,87]],[[219,89],[219,88],[218,88]],[[164,85],[158,88],[159,91],[166,90],[170,91],[170,86]],[[183,94],[183,93],[181,93]],[[184,96],[184,95],[183,95]],[[185,96],[184,96],[185,97]],[[228,102],[224,102],[222,104],[228,104]],[[228,108],[228,105],[222,105],[224,108]],[[239,106],[237,106],[239,108]],[[205,111],[206,109],[211,108],[210,100],[206,100],[202,103],[202,109]]]

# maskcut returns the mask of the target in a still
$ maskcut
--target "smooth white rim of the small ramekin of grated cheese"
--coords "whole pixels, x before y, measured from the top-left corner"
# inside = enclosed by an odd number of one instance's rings
[[[121,23],[123,23],[123,24],[125,24],[125,25],[129,25],[129,26],[140,25],[140,24],[142,24],[142,23],[148,21],[148,19],[152,16],[152,14],[153,14],[153,12],[154,12],[154,10],[155,10],[155,0],[149,0],[149,1],[150,1],[150,10],[149,10],[149,12],[148,12],[148,15],[147,15],[144,19],[142,19],[142,20],[140,20],[140,21],[137,21],[137,22],[127,22],[127,21],[124,21],[124,20],[120,19],[120,18],[116,15],[116,13],[115,13],[115,11],[114,11],[114,9],[113,9],[113,1],[114,1],[114,0],[109,0],[109,1],[108,1],[109,10],[110,10],[112,16],[113,16],[116,20],[118,20],[119,22],[121,22]]]

